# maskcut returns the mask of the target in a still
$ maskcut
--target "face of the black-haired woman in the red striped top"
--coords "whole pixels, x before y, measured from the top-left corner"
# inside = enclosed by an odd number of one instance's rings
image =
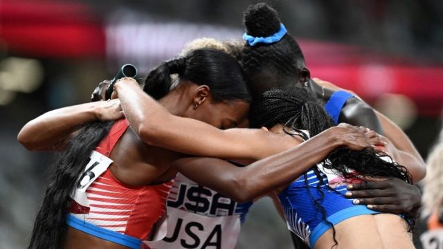
[[[248,111],[249,103],[242,100],[205,101],[193,111],[190,118],[212,124],[219,129],[247,127]]]

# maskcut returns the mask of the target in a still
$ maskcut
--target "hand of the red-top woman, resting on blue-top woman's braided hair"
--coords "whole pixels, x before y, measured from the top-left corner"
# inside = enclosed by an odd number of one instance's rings
[[[373,145],[383,144],[379,136],[373,136],[370,129],[341,123],[335,127],[334,136],[349,149],[361,150]]]

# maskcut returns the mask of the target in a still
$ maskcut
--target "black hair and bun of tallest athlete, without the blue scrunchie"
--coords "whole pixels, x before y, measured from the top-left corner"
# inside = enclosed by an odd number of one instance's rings
[[[266,3],[249,6],[244,12],[246,33],[253,37],[269,37],[280,29],[278,12]],[[299,78],[305,57],[300,46],[287,33],[272,44],[244,44],[242,66],[251,83],[254,96],[273,87],[293,86]]]

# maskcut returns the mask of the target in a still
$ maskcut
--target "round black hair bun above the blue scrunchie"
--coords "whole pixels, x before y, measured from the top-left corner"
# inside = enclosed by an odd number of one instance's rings
[[[269,37],[280,30],[278,12],[266,3],[256,3],[244,12],[246,33],[253,37]]]

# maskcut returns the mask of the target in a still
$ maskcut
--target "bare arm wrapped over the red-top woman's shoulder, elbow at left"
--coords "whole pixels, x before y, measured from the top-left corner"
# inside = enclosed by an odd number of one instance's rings
[[[149,145],[184,154],[224,159],[260,160],[292,146],[293,138],[261,129],[217,129],[170,114],[133,80],[115,84],[132,129]]]

